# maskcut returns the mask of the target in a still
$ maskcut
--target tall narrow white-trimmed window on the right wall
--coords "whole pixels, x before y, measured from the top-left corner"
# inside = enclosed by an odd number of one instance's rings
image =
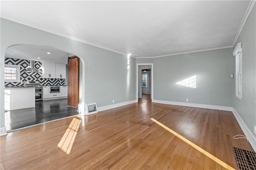
[[[233,51],[236,57],[236,97],[242,100],[242,43],[238,43]]]

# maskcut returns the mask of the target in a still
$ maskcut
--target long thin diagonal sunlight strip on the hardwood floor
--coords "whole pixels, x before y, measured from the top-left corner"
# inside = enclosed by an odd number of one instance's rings
[[[234,168],[232,168],[231,166],[229,166],[228,164],[226,164],[225,162],[223,162],[222,160],[216,158],[215,156],[213,156],[212,154],[210,154],[209,152],[207,152],[206,150],[200,148],[199,146],[197,146],[196,144],[192,143],[190,140],[184,138],[183,136],[181,136],[180,134],[178,134],[177,132],[175,132],[174,130],[166,127],[165,125],[163,125],[162,123],[158,122],[156,119],[154,118],[150,118],[151,121],[153,121],[154,123],[158,124],[160,127],[168,130],[169,132],[171,132],[172,134],[174,134],[175,136],[177,136],[178,138],[180,138],[181,140],[183,140],[184,142],[186,142],[187,144],[189,144],[190,146],[192,146],[194,149],[198,150],[199,152],[201,152],[202,154],[204,154],[205,156],[207,156],[208,158],[210,158],[211,160],[215,161],[216,163],[220,164],[220,166],[222,166],[225,169],[229,169],[229,170],[234,170]]]

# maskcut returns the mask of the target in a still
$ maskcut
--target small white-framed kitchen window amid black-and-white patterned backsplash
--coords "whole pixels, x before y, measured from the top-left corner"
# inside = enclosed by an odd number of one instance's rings
[[[20,82],[20,65],[4,65],[4,81]]]

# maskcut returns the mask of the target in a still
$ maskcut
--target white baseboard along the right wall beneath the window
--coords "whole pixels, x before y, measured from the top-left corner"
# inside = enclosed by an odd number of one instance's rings
[[[256,152],[256,137],[254,137],[252,132],[249,130],[249,128],[246,126],[246,124],[234,108],[232,109],[232,113],[235,116],[236,121],[240,125],[242,131],[244,132],[246,138],[248,138],[253,150]]]

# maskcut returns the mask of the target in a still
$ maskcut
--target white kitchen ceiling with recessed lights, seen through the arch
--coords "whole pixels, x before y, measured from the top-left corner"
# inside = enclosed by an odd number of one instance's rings
[[[50,54],[47,54],[50,52]],[[67,64],[69,53],[40,45],[13,45],[6,49],[5,57],[17,59],[32,59]],[[37,57],[40,57],[38,59]]]

